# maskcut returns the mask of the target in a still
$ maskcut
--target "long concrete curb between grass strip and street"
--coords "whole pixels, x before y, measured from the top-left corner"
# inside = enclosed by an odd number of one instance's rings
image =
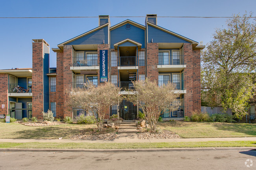
[[[150,148],[150,149],[19,149],[0,148],[0,152],[94,152],[94,153],[124,153],[124,152],[170,152],[170,151],[208,151],[208,150],[256,150],[253,147],[220,147],[220,148]]]

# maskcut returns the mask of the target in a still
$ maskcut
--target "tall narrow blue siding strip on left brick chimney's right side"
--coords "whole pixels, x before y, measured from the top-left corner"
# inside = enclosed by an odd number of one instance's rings
[[[44,112],[47,112],[49,109],[49,78],[46,74],[49,73],[49,54],[45,53],[43,67],[43,83],[44,83]]]

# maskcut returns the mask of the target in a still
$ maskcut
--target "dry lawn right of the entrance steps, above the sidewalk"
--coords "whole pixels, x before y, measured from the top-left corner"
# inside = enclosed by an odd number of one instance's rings
[[[256,137],[256,124],[219,122],[159,122],[158,128],[175,132],[182,138]]]

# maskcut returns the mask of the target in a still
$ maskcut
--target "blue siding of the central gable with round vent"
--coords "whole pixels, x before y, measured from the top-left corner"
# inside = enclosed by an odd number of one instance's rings
[[[135,42],[141,43],[142,44],[141,48],[145,48],[145,30],[139,27],[136,27],[132,24],[130,25],[131,25],[131,29],[125,29],[125,25],[122,25],[121,27],[118,27],[110,31],[110,38],[111,38],[110,48],[111,49],[114,48],[115,43],[121,42],[122,40],[125,40],[127,38]]]

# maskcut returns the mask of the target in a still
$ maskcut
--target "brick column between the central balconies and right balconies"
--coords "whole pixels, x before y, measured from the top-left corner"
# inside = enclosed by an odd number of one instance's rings
[[[158,81],[158,43],[147,43],[147,77]]]

